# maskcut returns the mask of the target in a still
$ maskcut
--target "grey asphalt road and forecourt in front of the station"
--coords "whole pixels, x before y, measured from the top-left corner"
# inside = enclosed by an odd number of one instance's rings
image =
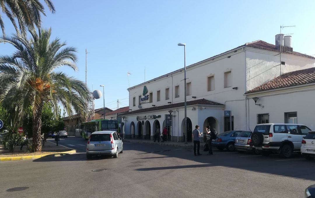
[[[51,141],[51,140],[49,140]],[[315,184],[315,161],[215,150],[124,144],[117,159],[87,160],[86,140],[60,144],[77,154],[0,162],[0,197],[304,197]],[[92,172],[95,169],[106,169]],[[27,190],[7,192],[14,187]]]

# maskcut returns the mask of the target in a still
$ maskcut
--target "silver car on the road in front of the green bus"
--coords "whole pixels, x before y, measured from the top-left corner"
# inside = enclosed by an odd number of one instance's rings
[[[89,137],[86,145],[86,157],[91,159],[92,156],[114,156],[123,153],[123,141],[116,131],[95,131]]]

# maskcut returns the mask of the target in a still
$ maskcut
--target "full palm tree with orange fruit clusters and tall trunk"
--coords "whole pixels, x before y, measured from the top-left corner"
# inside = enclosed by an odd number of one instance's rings
[[[19,34],[0,39],[17,49],[11,56],[0,56],[0,103],[11,105],[20,117],[31,106],[33,151],[40,151],[44,102],[53,106],[56,115],[61,104],[68,115],[75,111],[84,119],[91,97],[85,83],[56,71],[61,66],[77,71],[76,48],[62,48],[66,43],[59,38],[50,42],[50,28],[30,32],[30,39]]]

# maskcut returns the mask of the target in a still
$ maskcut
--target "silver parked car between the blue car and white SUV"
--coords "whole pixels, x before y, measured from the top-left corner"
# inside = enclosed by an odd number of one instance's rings
[[[252,142],[250,136],[253,132],[251,131],[242,131],[236,138],[235,138],[235,149],[239,153],[243,153],[244,151],[253,151],[254,154],[258,154],[259,151],[255,150],[249,144]]]

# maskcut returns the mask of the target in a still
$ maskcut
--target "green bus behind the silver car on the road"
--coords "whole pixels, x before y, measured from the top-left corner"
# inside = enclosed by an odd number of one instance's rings
[[[91,120],[90,122],[82,122],[82,138],[89,139],[91,133],[95,131],[116,131],[119,134],[119,126],[117,120]]]

